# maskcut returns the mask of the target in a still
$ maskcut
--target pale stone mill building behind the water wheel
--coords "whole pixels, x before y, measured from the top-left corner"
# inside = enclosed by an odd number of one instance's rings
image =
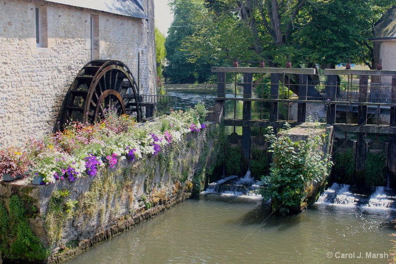
[[[0,17],[0,147],[51,132],[91,60],[124,62],[155,93],[153,0],[4,0]]]

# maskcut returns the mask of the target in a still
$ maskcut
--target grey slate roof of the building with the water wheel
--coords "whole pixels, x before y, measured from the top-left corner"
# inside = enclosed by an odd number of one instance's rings
[[[46,0],[117,15],[147,18],[140,0]]]

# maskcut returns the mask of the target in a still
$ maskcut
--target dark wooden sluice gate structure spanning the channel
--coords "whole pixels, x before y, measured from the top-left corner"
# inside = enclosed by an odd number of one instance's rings
[[[345,133],[345,138],[356,134],[357,174],[364,170],[367,157],[366,133],[389,136],[386,165],[391,185],[396,185],[396,71],[325,69],[319,76],[312,68],[212,67],[212,72],[217,73],[215,107],[226,126],[242,127],[241,147],[246,160],[251,151],[252,127],[272,126],[276,130],[286,123],[294,127],[307,121],[307,105],[320,106],[326,112],[326,123],[334,126],[336,132]],[[236,82],[227,81],[237,74],[244,76],[242,94],[237,94]],[[235,85],[235,92],[227,94],[226,87],[231,84]],[[253,94],[257,86],[266,87],[266,92],[261,89],[261,94]],[[236,118],[236,103],[234,117],[226,118],[226,101],[243,102],[242,119]],[[259,118],[252,118],[252,102],[260,109]],[[289,118],[292,104],[297,104],[297,118],[293,120]],[[281,106],[287,106],[286,116],[280,116]]]

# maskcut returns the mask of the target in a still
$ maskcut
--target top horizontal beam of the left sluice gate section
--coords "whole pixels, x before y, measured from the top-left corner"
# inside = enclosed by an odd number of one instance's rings
[[[212,72],[315,74],[312,68],[212,67]]]

